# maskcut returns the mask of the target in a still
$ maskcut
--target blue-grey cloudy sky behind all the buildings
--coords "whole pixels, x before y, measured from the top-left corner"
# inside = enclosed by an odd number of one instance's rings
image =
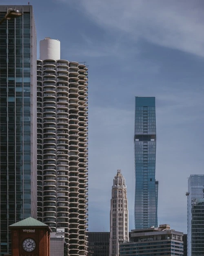
[[[134,101],[155,96],[158,224],[186,233],[188,177],[204,174],[204,1],[29,2],[38,45],[59,39],[61,59],[89,68],[89,231],[109,231],[117,169],[134,229]]]

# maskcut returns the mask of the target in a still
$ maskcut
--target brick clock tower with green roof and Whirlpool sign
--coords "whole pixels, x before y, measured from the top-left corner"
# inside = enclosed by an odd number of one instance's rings
[[[29,217],[9,226],[11,256],[49,256],[50,232],[47,224]]]

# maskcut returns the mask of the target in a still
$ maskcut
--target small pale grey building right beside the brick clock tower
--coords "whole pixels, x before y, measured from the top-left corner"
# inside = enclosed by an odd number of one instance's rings
[[[50,233],[50,256],[64,256],[65,254],[64,229],[57,229]],[[66,253],[67,255],[67,253]]]

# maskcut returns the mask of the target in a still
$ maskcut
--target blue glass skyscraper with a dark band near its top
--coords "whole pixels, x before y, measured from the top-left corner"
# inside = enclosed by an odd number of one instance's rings
[[[135,229],[157,227],[155,97],[135,97]]]

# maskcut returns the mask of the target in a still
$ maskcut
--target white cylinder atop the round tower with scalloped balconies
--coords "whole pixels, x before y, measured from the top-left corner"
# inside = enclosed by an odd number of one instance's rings
[[[40,41],[40,59],[60,59],[60,41],[46,37]]]

